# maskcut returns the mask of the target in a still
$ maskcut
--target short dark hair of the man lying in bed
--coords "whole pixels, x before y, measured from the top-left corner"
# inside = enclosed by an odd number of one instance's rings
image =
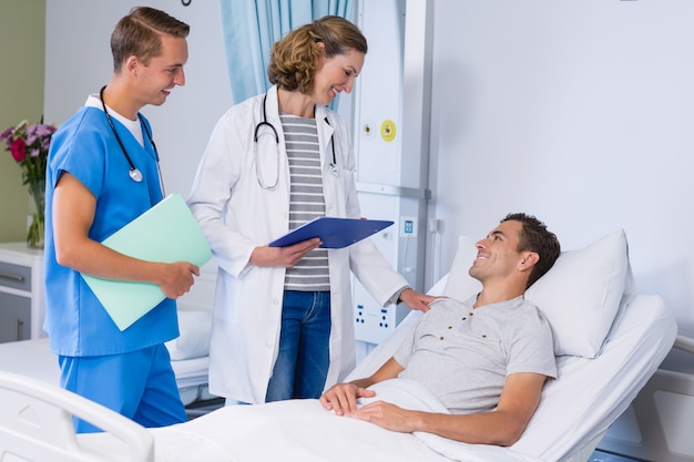
[[[561,246],[557,235],[551,233],[547,225],[534,216],[523,213],[508,214],[501,223],[510,219],[520,222],[523,225],[519,236],[518,251],[534,251],[540,256],[540,260],[533,266],[530,276],[528,276],[527,289],[554,265],[561,253]]]

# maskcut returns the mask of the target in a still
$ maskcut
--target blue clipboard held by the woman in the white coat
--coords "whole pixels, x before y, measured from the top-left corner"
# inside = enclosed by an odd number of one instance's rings
[[[394,222],[381,219],[319,217],[269,243],[271,247],[286,247],[313,237],[323,240],[320,248],[344,248],[365,239]]]

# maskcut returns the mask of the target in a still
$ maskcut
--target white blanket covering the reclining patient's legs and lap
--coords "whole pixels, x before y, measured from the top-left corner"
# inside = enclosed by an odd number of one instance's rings
[[[377,396],[369,400],[447,412],[423,387],[409,380],[394,379],[374,389]],[[191,458],[210,462],[537,462],[509,449],[465,444],[429,433],[391,432],[337,417],[318,400],[226,407],[182,425],[152,430],[152,434],[157,462]]]

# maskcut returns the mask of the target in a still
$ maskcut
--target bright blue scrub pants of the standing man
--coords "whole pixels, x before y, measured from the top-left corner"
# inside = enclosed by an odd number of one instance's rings
[[[143,427],[187,421],[169,350],[156,345],[123,355],[59,356],[62,388],[95,401]],[[101,429],[74,418],[78,433]]]

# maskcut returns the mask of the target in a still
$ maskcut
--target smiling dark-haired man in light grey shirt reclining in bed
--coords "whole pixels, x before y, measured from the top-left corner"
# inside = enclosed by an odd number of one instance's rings
[[[549,325],[523,298],[560,254],[557,236],[533,216],[510,214],[477,243],[470,276],[482,290],[465,302],[431,304],[398,351],[366,379],[338,383],[320,397],[338,415],[399,432],[423,431],[467,443],[511,445],[534,413],[548,377],[557,377]],[[367,387],[415,380],[451,414],[374,401]]]

